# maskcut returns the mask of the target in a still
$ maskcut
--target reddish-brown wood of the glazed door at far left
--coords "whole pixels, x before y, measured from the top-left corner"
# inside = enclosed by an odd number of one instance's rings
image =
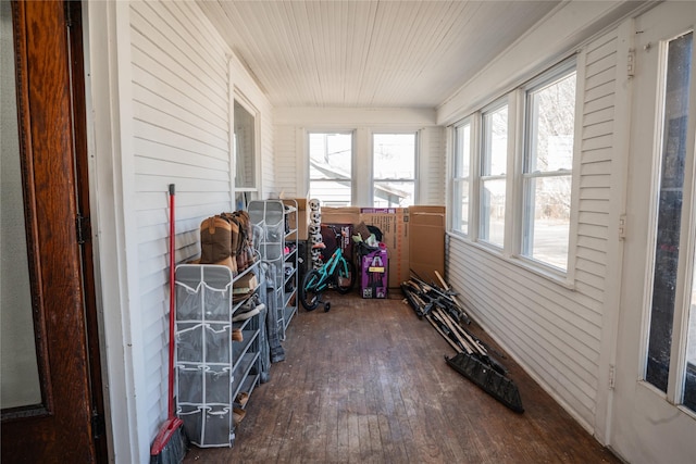
[[[82,39],[71,24],[79,3],[13,2],[11,14],[27,250],[16,272],[28,273],[38,401],[5,407],[3,398],[2,462],[97,462],[105,440],[94,426],[101,377],[88,221],[78,221],[88,215]]]

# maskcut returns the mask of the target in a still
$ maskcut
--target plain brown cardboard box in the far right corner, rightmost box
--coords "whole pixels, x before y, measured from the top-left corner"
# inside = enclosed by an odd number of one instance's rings
[[[445,277],[445,206],[409,208],[409,266],[423,280]]]

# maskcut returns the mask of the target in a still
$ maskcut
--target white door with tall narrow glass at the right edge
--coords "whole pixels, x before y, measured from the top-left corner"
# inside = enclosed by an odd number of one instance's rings
[[[696,414],[681,405],[676,387],[693,268],[696,114],[694,79],[684,87],[674,76],[694,75],[693,50],[681,64],[670,62],[675,47],[691,42],[695,23],[694,2],[662,3],[635,23],[629,223],[609,440],[632,463],[696,456]]]

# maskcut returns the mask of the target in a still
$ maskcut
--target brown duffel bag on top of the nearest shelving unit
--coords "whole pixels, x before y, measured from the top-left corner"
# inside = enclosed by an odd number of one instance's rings
[[[233,242],[239,239],[239,226],[224,215],[208,217],[200,224],[200,263],[222,264],[237,275],[236,251]]]

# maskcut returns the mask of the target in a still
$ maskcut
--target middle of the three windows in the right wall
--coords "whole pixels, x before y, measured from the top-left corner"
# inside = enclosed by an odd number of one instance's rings
[[[508,105],[496,105],[482,115],[478,237],[502,248],[505,190],[508,164]]]

